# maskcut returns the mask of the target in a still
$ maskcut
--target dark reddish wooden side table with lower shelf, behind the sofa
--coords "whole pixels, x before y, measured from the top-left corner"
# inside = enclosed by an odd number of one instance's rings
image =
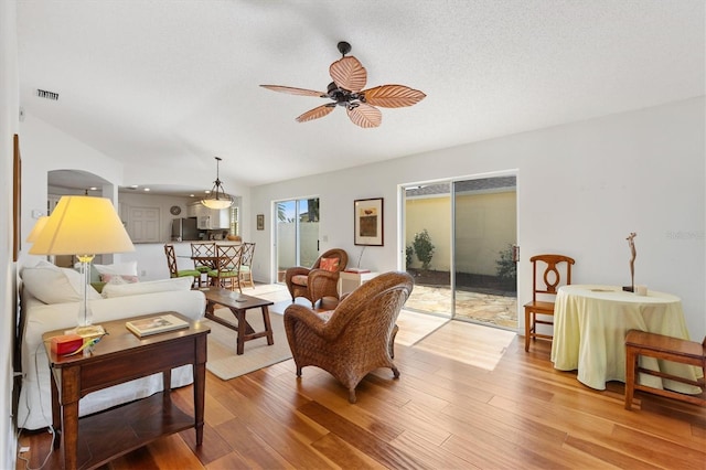
[[[190,321],[175,312],[171,313]],[[64,452],[65,469],[92,469],[165,435],[195,428],[196,445],[203,442],[203,413],[206,375],[206,334],[211,329],[191,322],[189,329],[137,338],[125,327],[135,317],[100,323],[108,332],[93,353],[57,356],[51,338],[43,335],[52,371],[52,423],[60,439],[54,448]],[[171,402],[171,371],[192,364],[194,372],[194,416]],[[163,392],[105,412],[78,418],[78,399],[135,378],[162,373]]]

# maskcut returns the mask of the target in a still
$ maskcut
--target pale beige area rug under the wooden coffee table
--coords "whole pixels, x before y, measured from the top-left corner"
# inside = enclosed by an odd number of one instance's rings
[[[228,309],[216,309],[214,313],[236,323],[235,316],[233,316]],[[275,344],[268,345],[267,338],[246,341],[245,352],[240,355],[236,354],[237,333],[235,331],[214,321],[204,320],[204,322],[211,327],[206,368],[218,378],[227,381],[291,359],[291,351],[289,351],[289,343],[287,342],[287,334],[285,333],[284,317],[270,311],[269,318],[272,325]],[[265,329],[263,316],[259,310],[248,311],[247,321],[253,325],[255,331],[263,331]]]

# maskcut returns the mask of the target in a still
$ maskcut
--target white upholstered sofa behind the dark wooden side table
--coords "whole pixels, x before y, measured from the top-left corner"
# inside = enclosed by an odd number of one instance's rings
[[[63,270],[64,274],[68,274]],[[38,279],[32,277],[41,273],[40,286]],[[50,368],[46,353],[42,343],[42,334],[61,329],[71,329],[76,325],[78,302],[46,303],[44,300],[55,300],[56,288],[54,282],[52,298],[45,297],[47,289],[46,276],[55,276],[49,271],[23,270],[22,277],[32,279],[30,282],[23,279],[22,292],[22,321],[21,327],[21,356],[22,356],[22,388],[18,407],[18,427],[25,429],[41,429],[52,423],[52,402]],[[30,276],[30,274],[32,276]],[[73,276],[72,276],[73,278]],[[135,285],[116,285],[104,288],[100,297],[92,289],[89,300],[94,316],[94,324],[109,320],[118,320],[127,317],[148,314],[161,311],[175,311],[192,320],[203,318],[205,310],[205,296],[197,290],[191,290],[193,279],[190,277],[180,279],[165,279],[158,281],[138,282]],[[67,289],[66,286],[63,286]],[[34,291],[34,293],[33,293]],[[71,299],[75,292],[71,292]],[[58,299],[62,300],[62,299]],[[97,345],[99,348],[99,343]],[[188,385],[192,382],[192,367],[189,365],[172,371],[172,387]],[[142,377],[125,384],[116,385],[98,392],[90,393],[79,402],[79,416],[96,413],[119,404],[128,403],[137,398],[143,398],[162,389],[161,374]]]

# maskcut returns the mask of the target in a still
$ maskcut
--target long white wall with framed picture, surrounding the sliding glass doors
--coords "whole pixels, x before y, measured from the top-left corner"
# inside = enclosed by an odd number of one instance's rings
[[[515,169],[520,306],[530,297],[527,260],[538,253],[574,257],[576,284],[630,284],[625,237],[637,232],[635,282],[680,296],[689,333],[700,340],[706,335],[704,110],[702,96],[257,186],[250,210],[271,214],[272,201],[319,196],[321,250],[342,247],[357,259],[353,201],[382,196],[385,246],[367,247],[362,265],[392,270],[404,261],[398,185]],[[266,223],[252,237],[258,244],[254,275],[264,281],[274,279],[271,226]]]

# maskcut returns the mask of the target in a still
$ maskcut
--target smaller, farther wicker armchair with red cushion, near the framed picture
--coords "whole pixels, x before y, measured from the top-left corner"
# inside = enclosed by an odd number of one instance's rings
[[[335,271],[320,268],[321,260],[324,258],[339,260]],[[319,259],[311,268],[295,266],[287,269],[285,282],[289,293],[291,293],[291,301],[293,302],[297,297],[306,297],[311,301],[311,307],[313,307],[318,300],[324,297],[335,297],[338,299],[339,273],[345,269],[347,263],[349,255],[345,250],[333,248],[319,256]]]

